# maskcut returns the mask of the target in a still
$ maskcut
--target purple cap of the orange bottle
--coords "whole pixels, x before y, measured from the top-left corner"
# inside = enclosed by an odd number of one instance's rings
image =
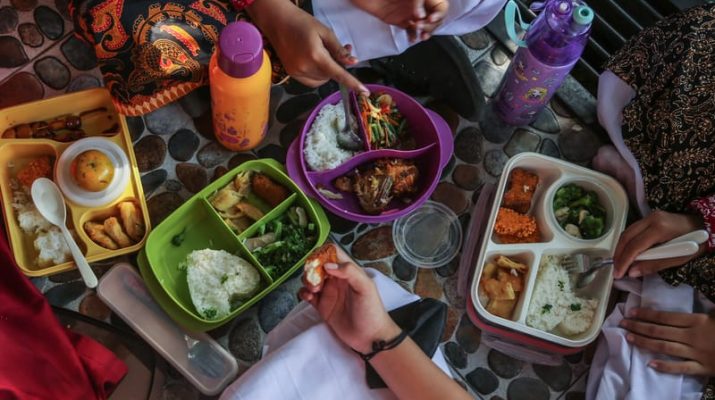
[[[263,65],[263,38],[248,22],[233,22],[221,31],[218,66],[234,78],[255,74]]]

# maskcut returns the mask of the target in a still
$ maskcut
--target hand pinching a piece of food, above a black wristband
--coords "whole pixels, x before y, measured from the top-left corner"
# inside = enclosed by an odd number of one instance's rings
[[[323,284],[307,285],[298,295],[315,307],[343,343],[369,353],[374,341],[392,339],[400,328],[385,311],[372,279],[341,249],[336,251],[338,264],[325,264]]]

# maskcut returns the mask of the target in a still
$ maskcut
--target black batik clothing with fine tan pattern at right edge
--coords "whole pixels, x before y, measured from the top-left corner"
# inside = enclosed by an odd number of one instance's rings
[[[653,209],[693,212],[715,194],[715,5],[643,30],[606,65],[636,91],[623,110],[623,139],[638,160]],[[661,272],[715,301],[715,253]],[[715,380],[703,399],[715,400]]]

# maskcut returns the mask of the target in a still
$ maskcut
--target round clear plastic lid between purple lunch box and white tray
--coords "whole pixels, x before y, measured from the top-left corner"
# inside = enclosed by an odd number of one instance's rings
[[[459,252],[462,224],[454,211],[430,200],[395,221],[392,236],[405,261],[418,267],[438,268]]]

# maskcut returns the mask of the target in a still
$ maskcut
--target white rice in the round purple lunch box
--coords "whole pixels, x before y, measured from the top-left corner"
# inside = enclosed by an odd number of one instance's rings
[[[303,155],[313,171],[334,169],[354,155],[338,146],[337,135],[345,126],[342,101],[323,107],[305,138]]]

